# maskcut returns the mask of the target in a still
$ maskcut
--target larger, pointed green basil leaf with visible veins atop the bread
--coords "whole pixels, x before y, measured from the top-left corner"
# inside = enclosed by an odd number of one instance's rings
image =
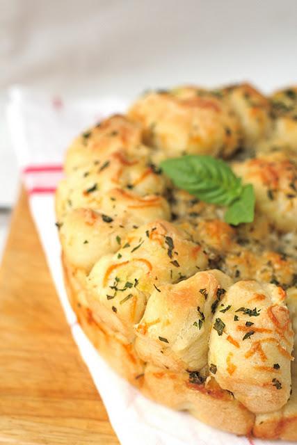
[[[228,206],[243,186],[227,163],[207,155],[182,156],[161,162],[161,169],[175,186],[209,204]]]

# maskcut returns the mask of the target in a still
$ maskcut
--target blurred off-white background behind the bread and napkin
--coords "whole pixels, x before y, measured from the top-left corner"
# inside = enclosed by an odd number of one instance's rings
[[[131,99],[191,82],[248,80],[268,92],[296,77],[296,0],[0,0],[0,207],[17,190],[12,84]]]

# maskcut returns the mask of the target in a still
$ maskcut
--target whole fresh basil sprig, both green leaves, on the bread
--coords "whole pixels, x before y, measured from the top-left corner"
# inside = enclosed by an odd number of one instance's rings
[[[241,178],[221,159],[186,155],[166,159],[160,166],[175,186],[204,202],[227,207],[226,223],[239,225],[254,220],[254,188],[251,184],[243,186]]]

